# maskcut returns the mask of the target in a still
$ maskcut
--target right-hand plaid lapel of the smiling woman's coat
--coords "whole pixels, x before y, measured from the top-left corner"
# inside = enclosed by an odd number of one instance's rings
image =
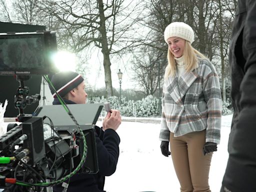
[[[187,89],[194,82],[194,80],[198,77],[198,74],[195,70],[189,71],[181,75],[178,79],[178,89],[180,97],[182,98],[186,93]]]

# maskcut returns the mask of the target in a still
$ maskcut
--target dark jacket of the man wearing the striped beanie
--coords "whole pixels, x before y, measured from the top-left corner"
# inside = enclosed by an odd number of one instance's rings
[[[66,104],[75,104],[70,100],[64,99]],[[60,104],[55,98],[52,104]],[[67,192],[102,192],[104,187],[105,176],[114,173],[119,156],[120,138],[113,129],[103,131],[98,126],[95,126],[96,151],[98,158],[98,173],[97,174],[82,174],[78,173],[70,178]],[[63,187],[60,185],[54,186],[54,192],[60,192]]]

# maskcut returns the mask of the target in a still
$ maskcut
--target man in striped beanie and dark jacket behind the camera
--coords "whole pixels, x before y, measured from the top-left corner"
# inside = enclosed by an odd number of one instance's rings
[[[87,93],[80,74],[72,71],[58,72],[51,78],[51,82],[66,104],[85,104]],[[54,97],[52,104],[60,104],[56,94],[50,87]],[[99,171],[96,174],[76,173],[70,178],[67,192],[102,192],[105,176],[114,173],[119,156],[120,138],[116,129],[121,123],[118,110],[111,109],[103,120],[102,127],[95,126],[96,152]],[[53,186],[53,191],[62,191],[61,184]]]

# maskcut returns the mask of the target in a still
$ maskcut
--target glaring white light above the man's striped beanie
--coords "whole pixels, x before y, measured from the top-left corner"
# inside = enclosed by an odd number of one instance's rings
[[[68,51],[57,51],[56,54],[52,55],[52,59],[56,67],[60,71],[71,70],[75,71],[75,55]]]

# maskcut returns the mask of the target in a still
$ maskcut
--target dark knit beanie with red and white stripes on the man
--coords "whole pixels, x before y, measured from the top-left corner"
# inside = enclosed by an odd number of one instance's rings
[[[82,76],[73,71],[61,71],[53,74],[51,77],[51,83],[61,97],[65,96],[66,93],[77,87],[82,81]],[[56,93],[51,87],[50,92],[52,96],[56,98]]]

